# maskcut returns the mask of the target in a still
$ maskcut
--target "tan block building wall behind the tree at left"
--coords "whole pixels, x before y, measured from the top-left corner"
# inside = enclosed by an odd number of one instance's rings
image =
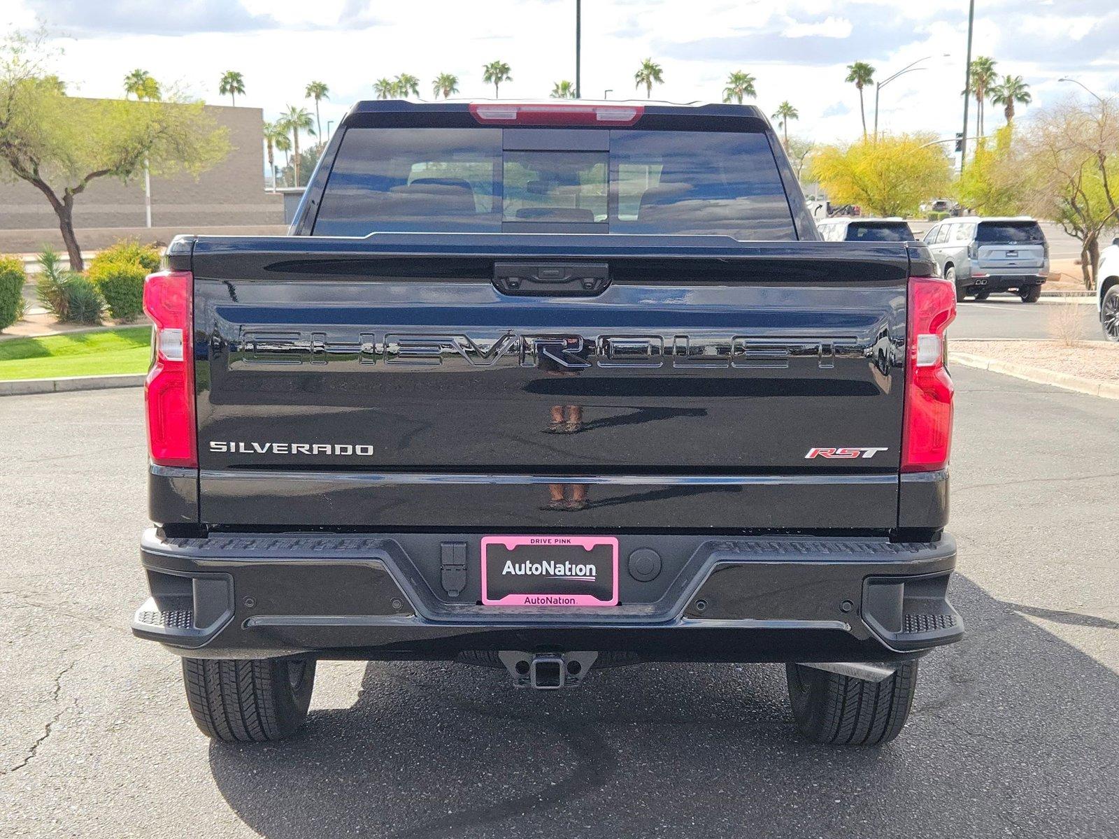
[[[179,173],[151,179],[152,225],[182,228],[283,224],[283,198],[264,190],[264,150],[258,107],[207,105],[206,113],[229,132],[229,155],[196,179]],[[128,185],[101,178],[74,201],[74,227],[144,227],[143,178]],[[50,205],[25,181],[0,181],[0,232],[57,232]],[[60,242],[60,239],[59,239]]]

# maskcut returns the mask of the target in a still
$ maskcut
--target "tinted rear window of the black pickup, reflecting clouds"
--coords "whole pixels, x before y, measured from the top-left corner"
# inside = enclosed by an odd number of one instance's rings
[[[764,134],[618,130],[609,132],[609,151],[514,150],[502,139],[502,129],[490,128],[348,129],[314,234],[796,238]]]

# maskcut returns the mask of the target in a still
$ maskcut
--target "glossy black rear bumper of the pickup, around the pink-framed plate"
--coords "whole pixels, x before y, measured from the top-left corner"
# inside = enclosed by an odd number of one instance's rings
[[[962,637],[947,600],[950,536],[934,543],[811,537],[628,536],[621,605],[477,605],[476,566],[458,598],[429,548],[477,535],[144,532],[151,597],[133,632],[182,656],[454,659],[478,651],[598,650],[657,661],[888,661]],[[471,544],[471,540],[472,544]],[[658,579],[626,571],[633,545],[664,556]],[[438,563],[438,559],[435,560]]]

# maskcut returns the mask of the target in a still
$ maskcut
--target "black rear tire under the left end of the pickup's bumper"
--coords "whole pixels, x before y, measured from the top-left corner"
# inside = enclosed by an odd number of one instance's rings
[[[264,743],[293,734],[307,718],[314,661],[182,659],[190,715],[203,734],[226,743]]]

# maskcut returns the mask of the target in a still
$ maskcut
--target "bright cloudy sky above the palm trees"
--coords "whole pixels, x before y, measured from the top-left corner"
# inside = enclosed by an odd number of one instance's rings
[[[585,0],[583,92],[611,98],[638,93],[633,72],[651,56],[664,67],[660,98],[717,101],[727,73],[756,76],[756,103],[782,100],[799,111],[793,133],[854,139],[858,96],[845,65],[869,62],[884,78],[931,56],[927,69],[882,91],[880,122],[892,131],[959,130],[966,0]],[[1099,93],[1119,91],[1116,0],[979,0],[974,53],[1022,75],[1035,102],[1081,94],[1071,75]],[[70,93],[119,96],[134,67],[208,102],[222,102],[226,69],[244,74],[238,104],[265,117],[303,100],[307,83],[330,86],[323,128],[382,76],[412,73],[431,95],[440,72],[460,78],[460,95],[492,88],[481,66],[501,59],[514,81],[501,96],[546,96],[574,79],[575,0],[0,0],[0,26],[44,23],[62,48],[58,74]],[[949,54],[944,57],[944,54]],[[867,92],[867,114],[873,91]],[[225,100],[228,102],[228,100]],[[990,109],[990,111],[999,111]],[[1028,114],[1028,111],[1027,111]],[[993,122],[1002,123],[1002,113]]]

